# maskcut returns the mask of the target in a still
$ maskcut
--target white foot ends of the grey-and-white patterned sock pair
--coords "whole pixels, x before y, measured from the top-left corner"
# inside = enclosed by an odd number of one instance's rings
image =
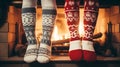
[[[38,61],[40,63],[48,63],[50,61],[51,48],[45,44],[41,44],[38,48],[37,45],[28,45],[24,56],[24,61],[31,63]]]

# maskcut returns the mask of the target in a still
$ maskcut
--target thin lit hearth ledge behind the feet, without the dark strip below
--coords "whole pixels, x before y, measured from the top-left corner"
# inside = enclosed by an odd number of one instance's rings
[[[0,57],[0,62],[24,62],[23,57]],[[51,56],[51,62],[52,61],[71,61],[69,56]],[[96,61],[120,61],[120,57],[103,57],[103,56],[97,56]]]

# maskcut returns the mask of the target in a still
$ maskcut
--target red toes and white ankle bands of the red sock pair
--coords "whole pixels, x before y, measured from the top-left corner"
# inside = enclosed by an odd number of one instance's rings
[[[71,41],[69,57],[72,61],[85,60],[88,62],[96,60],[95,50],[92,41]]]

